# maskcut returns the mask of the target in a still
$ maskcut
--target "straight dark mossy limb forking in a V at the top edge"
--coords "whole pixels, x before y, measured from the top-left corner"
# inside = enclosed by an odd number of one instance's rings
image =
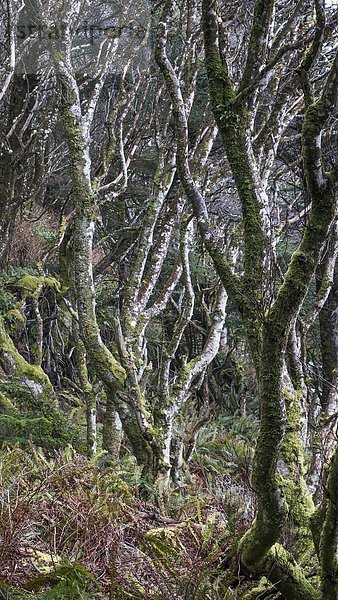
[[[255,31],[252,32],[247,69],[243,78],[253,75],[252,69],[262,60],[260,55],[253,54],[253,48],[261,46],[262,29],[266,29],[271,12],[272,2],[256,3]],[[258,6],[259,5],[259,6]],[[222,137],[231,172],[235,180],[243,212],[244,232],[244,277],[241,297],[234,300],[244,317],[244,326],[250,344],[256,369],[259,369],[261,347],[261,318],[263,298],[263,265],[266,250],[263,232],[263,204],[255,183],[252,158],[250,157],[250,140],[247,136],[248,108],[246,102],[239,102],[233,83],[228,74],[226,61],[222,60],[218,40],[216,7],[213,0],[203,2],[203,33],[205,45],[205,64],[208,74],[211,107]],[[247,82],[248,83],[248,82]],[[216,267],[217,268],[217,267]],[[220,273],[219,273],[220,274]],[[220,274],[221,276],[221,274]],[[223,280],[224,285],[226,282]],[[226,286],[226,289],[228,287]],[[229,290],[231,293],[231,290]],[[233,294],[231,294],[233,297]]]

